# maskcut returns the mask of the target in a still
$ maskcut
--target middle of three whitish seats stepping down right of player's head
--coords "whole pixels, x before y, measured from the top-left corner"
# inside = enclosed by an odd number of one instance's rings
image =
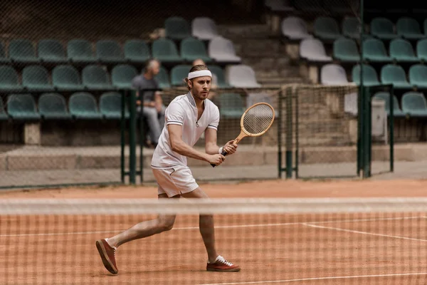
[[[209,56],[217,63],[241,63],[242,59],[236,55],[234,44],[228,38],[217,36],[209,42]]]

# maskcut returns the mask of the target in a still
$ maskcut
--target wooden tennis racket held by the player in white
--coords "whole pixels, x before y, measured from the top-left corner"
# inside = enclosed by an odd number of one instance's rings
[[[245,137],[259,137],[267,132],[273,125],[275,112],[273,107],[268,103],[256,103],[251,105],[241,118],[241,133],[234,140],[238,144]],[[225,150],[221,155],[227,155]],[[212,167],[216,165],[211,164]]]

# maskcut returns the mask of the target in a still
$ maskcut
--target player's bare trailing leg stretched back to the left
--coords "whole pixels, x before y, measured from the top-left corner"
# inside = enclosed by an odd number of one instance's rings
[[[166,194],[159,195],[159,199],[164,198],[167,198]],[[179,198],[179,195],[174,198]],[[157,219],[135,224],[135,226],[125,230],[125,232],[121,232],[114,237],[110,237],[107,242],[111,247],[120,247],[120,245],[125,244],[126,242],[131,242],[135,239],[142,239],[144,237],[152,236],[153,234],[169,231],[174,226],[175,217],[175,214],[159,214]]]

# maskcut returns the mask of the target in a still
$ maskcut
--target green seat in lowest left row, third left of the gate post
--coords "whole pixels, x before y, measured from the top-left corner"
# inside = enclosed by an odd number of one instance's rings
[[[58,93],[43,93],[38,98],[38,112],[45,120],[69,120],[73,116],[67,110],[67,102]]]

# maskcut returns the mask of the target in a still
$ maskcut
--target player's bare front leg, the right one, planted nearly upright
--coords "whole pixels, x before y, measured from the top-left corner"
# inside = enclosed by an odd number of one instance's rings
[[[200,188],[196,190],[182,194],[182,197],[185,198],[209,198],[205,192]],[[209,262],[214,262],[218,254],[215,249],[215,230],[214,230],[214,217],[211,214],[201,214],[199,215],[199,229],[201,238],[203,239],[204,245],[206,247],[206,252],[208,253]]]

